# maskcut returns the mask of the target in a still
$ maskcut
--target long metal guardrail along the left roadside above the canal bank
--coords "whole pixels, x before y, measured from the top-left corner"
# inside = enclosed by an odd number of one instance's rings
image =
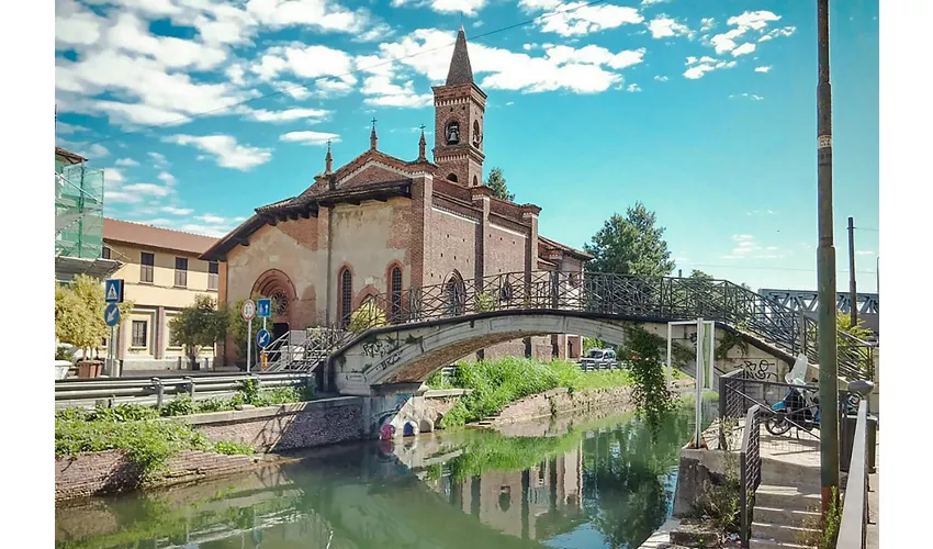
[[[90,406],[97,401],[105,400],[113,403],[155,403],[161,406],[167,395],[188,394],[192,399],[206,399],[233,394],[247,379],[257,380],[260,389],[305,385],[314,382],[312,376],[303,372],[60,380],[55,382],[55,404],[56,406]]]

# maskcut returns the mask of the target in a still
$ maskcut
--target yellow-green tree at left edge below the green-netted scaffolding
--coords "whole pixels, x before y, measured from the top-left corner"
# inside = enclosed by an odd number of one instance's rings
[[[88,352],[99,348],[110,335],[110,327],[103,320],[104,309],[106,301],[99,279],[78,274],[71,282],[56,285],[55,337],[81,349],[82,357],[88,358]],[[133,303],[119,303],[117,309],[124,318],[133,311]]]

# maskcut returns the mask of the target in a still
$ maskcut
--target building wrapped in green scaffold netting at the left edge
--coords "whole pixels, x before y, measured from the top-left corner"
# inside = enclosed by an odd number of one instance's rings
[[[120,264],[101,257],[103,170],[86,158],[55,147],[55,280],[76,274],[105,278]]]

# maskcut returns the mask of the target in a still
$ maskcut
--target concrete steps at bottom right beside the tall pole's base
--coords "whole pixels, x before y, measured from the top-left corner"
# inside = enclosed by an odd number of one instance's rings
[[[806,537],[819,530],[819,484],[762,484],[755,494],[750,549],[805,549]]]

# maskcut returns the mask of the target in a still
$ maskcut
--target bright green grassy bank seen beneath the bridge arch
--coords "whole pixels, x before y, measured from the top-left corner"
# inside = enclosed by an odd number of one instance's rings
[[[496,414],[506,405],[525,396],[551,389],[571,392],[625,386],[631,383],[626,370],[586,373],[566,360],[541,362],[528,358],[506,357],[495,361],[461,362],[454,374],[445,380],[436,373],[428,380],[432,389],[471,389],[447,413],[442,428],[457,427]]]

